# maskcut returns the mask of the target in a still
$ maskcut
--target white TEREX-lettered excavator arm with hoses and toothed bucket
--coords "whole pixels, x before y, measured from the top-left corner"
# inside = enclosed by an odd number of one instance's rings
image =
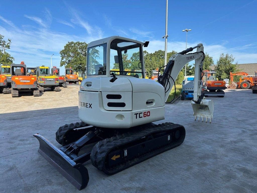
[[[196,52],[188,53],[195,48],[197,48]],[[195,60],[194,98],[191,101],[195,120],[198,117],[198,121],[200,118],[202,118],[202,121],[206,118],[206,122],[211,122],[213,118],[214,104],[212,100],[206,100],[204,93],[202,93],[203,86],[201,75],[204,57],[204,47],[201,43],[193,48],[191,47],[179,52],[178,54],[172,55],[169,58],[169,63],[164,69],[163,74],[158,77],[158,82],[162,84],[165,89],[165,100],[167,101],[179,72],[187,63]]]

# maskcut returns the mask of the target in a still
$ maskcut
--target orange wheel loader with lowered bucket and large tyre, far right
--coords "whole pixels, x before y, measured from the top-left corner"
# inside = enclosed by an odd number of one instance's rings
[[[245,76],[240,77],[239,82],[234,82],[234,76]],[[228,89],[249,89],[253,86],[253,77],[249,76],[246,72],[230,72],[231,84],[227,87]]]

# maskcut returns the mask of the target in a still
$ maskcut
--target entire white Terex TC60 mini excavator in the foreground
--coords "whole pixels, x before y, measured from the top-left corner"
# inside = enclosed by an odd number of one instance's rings
[[[34,135],[40,143],[39,153],[79,190],[89,181],[82,165],[88,160],[106,174],[114,174],[183,143],[186,132],[182,125],[152,122],[164,119],[174,80],[192,60],[194,116],[212,120],[213,102],[201,93],[203,45],[172,55],[156,82],[144,79],[143,46],[148,43],[119,36],[89,43],[87,78],[79,91],[82,122],[58,129],[56,140],[63,145],[60,149],[43,136]],[[195,48],[196,52],[188,53]]]

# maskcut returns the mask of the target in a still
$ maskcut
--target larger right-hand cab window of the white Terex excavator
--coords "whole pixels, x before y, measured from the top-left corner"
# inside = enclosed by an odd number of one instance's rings
[[[110,74],[143,78],[142,49],[140,43],[115,39],[110,50]]]

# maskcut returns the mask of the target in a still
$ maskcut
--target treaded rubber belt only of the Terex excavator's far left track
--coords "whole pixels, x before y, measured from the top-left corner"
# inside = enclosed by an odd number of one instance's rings
[[[81,127],[87,127],[89,126],[88,124],[84,123],[84,122],[76,122],[76,123],[71,123],[71,124],[66,124],[63,125],[61,127],[59,127],[59,129],[56,131],[55,135],[56,135],[56,141],[61,144],[61,145],[67,145],[64,142],[64,137],[65,134],[67,133],[67,131],[70,131],[72,129],[77,129],[77,128],[81,128]],[[82,137],[82,136],[81,136]]]

